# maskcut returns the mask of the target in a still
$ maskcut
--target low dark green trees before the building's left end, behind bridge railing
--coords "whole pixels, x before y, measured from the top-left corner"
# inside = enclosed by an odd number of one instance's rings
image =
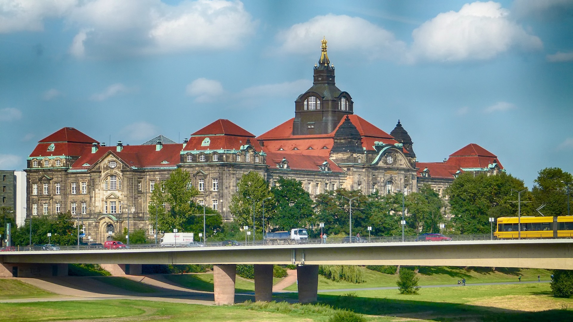
[[[76,245],[77,228],[73,226],[72,214],[58,213],[52,216],[38,216],[32,219],[32,244],[48,244],[48,233],[52,233],[49,238],[50,243],[57,245]],[[30,221],[18,227],[12,232],[14,245],[29,245]]]

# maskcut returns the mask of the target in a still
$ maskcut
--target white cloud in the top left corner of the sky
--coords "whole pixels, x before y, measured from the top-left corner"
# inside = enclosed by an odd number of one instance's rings
[[[69,13],[77,0],[0,0],[0,33],[44,30],[44,19]]]

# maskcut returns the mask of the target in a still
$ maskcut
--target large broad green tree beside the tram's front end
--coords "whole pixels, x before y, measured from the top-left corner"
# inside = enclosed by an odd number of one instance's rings
[[[512,190],[513,189],[513,190]],[[517,216],[517,193],[525,188],[523,181],[510,174],[495,176],[462,173],[445,193],[449,196],[454,228],[464,234],[489,233],[488,217]],[[521,214],[531,215],[531,193],[521,193]],[[530,201],[530,202],[527,202]]]

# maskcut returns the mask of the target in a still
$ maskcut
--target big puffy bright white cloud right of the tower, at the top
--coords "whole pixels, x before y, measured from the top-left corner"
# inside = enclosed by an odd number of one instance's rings
[[[466,3],[440,13],[412,32],[415,60],[455,62],[489,59],[512,48],[540,49],[541,40],[509,19],[497,2]]]

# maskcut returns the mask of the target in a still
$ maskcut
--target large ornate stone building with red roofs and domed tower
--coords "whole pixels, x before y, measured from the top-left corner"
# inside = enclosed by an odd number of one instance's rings
[[[401,122],[388,134],[354,114],[350,94],[336,87],[325,40],[313,71],[312,87],[295,101],[295,117],[258,137],[229,120],[214,121],[182,144],[159,136],[142,145],[106,146],[74,128],[50,134],[28,157],[28,216],[70,211],[98,242],[128,218],[130,229],[151,235],[150,194],[176,168],[191,174],[197,202],[227,219],[237,182],[251,171],[271,185],[281,176],[296,178],[313,197],[340,187],[416,192],[423,184],[442,193],[461,172],[503,170],[476,144],[444,162],[417,162]]]

